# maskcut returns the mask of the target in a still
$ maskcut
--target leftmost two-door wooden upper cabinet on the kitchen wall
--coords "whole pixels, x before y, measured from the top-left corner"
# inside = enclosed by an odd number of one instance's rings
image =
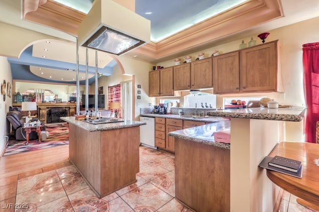
[[[173,96],[173,67],[149,72],[149,96]]]

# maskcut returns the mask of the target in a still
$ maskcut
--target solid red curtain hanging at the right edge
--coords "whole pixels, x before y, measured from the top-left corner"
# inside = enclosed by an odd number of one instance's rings
[[[307,104],[306,142],[316,143],[316,121],[319,120],[319,42],[303,45],[303,64]]]

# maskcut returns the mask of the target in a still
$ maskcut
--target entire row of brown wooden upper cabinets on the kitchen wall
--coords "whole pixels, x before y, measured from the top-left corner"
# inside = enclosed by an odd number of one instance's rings
[[[214,94],[282,92],[278,40],[150,72],[150,97],[214,88]]]

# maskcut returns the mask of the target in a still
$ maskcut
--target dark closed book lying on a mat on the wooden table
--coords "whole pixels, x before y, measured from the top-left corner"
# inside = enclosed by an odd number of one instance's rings
[[[270,166],[275,166],[281,169],[286,169],[291,172],[298,172],[301,167],[301,161],[293,160],[290,158],[285,158],[276,155],[271,161],[268,163]]]

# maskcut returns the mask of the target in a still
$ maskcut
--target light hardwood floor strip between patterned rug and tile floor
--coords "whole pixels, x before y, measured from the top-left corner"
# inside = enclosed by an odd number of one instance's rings
[[[69,145],[0,157],[0,179],[68,162]]]

